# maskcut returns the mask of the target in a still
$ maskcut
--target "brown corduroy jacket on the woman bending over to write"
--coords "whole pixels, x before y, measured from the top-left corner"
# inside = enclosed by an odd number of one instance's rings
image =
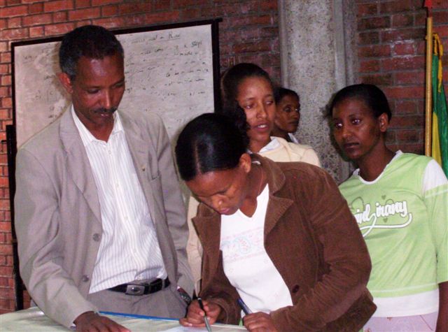
[[[356,220],[334,180],[304,163],[253,155],[267,173],[264,245],[293,305],[270,313],[279,331],[359,331],[376,310],[367,291],[371,262]],[[193,219],[204,246],[202,298],[221,305],[218,320],[237,324],[237,291],[223,273],[221,216],[201,204]]]

